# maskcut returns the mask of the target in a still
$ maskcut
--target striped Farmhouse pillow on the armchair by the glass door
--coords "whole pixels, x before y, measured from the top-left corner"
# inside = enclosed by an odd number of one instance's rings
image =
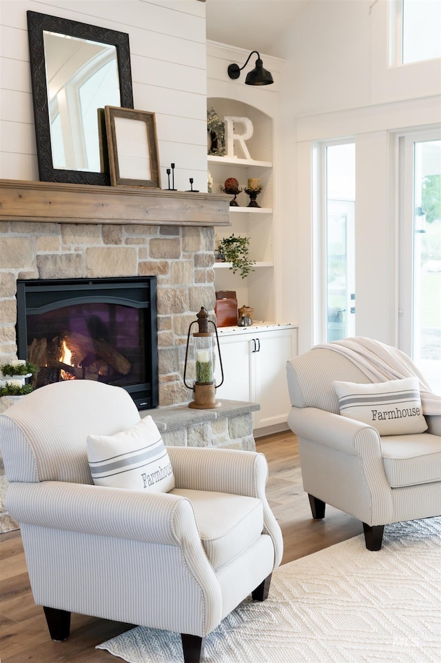
[[[427,431],[418,377],[378,384],[336,381],[332,384],[343,417],[369,424],[380,435],[409,435]]]

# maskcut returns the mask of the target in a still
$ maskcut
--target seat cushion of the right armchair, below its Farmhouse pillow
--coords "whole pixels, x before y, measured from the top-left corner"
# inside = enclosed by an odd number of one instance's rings
[[[441,481],[441,437],[388,435],[381,438],[384,471],[391,488]]]

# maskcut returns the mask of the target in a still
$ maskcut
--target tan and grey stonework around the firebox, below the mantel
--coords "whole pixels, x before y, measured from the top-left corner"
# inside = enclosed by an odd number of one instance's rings
[[[182,381],[190,322],[214,308],[214,229],[0,221],[0,356],[16,353],[17,279],[157,277],[160,406],[189,399]]]

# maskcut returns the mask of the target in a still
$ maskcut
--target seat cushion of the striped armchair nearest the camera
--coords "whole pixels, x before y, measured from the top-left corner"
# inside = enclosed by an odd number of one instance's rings
[[[256,497],[185,488],[174,488],[170,493],[192,502],[201,541],[215,571],[234,560],[263,532],[263,506]]]

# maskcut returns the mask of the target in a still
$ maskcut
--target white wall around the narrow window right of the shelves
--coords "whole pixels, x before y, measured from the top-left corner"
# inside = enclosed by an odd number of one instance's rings
[[[300,352],[324,340],[314,312],[312,146],[344,137],[356,142],[356,334],[398,341],[394,141],[407,128],[441,125],[441,61],[387,66],[387,4],[311,0],[285,34],[281,299],[300,323]]]

